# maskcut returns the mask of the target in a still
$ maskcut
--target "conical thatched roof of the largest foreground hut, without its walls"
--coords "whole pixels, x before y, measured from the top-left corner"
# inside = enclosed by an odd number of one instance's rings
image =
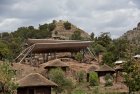
[[[39,73],[31,73],[21,80],[18,80],[17,83],[19,84],[19,87],[57,86],[57,84],[43,77]]]

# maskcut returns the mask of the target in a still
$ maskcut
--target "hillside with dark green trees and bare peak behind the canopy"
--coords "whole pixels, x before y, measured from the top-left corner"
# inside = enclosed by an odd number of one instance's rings
[[[0,33],[0,59],[13,60],[20,51],[23,50],[24,43],[28,38],[36,39],[72,39],[72,40],[87,40],[90,38],[88,33],[77,28],[68,21],[52,21],[52,23],[45,23],[39,25],[38,28],[34,26],[19,27],[16,31],[8,33]]]

